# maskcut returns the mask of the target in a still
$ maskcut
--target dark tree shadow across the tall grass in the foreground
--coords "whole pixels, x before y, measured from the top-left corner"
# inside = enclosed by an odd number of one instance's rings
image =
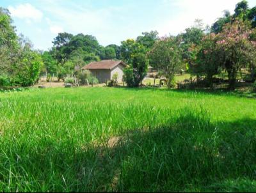
[[[251,119],[212,125],[205,112],[184,109],[166,125],[79,147],[72,138],[57,144],[42,137],[35,147],[9,144],[1,153],[0,189],[226,191],[249,184],[255,191],[255,125]]]

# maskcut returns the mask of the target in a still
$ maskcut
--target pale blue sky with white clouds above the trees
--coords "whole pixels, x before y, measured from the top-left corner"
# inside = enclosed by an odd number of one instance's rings
[[[240,0],[0,0],[16,26],[35,49],[48,50],[61,32],[93,35],[109,45],[142,32],[157,30],[160,36],[177,35],[195,19],[211,24],[224,10],[234,13]],[[256,0],[248,0],[250,8]]]

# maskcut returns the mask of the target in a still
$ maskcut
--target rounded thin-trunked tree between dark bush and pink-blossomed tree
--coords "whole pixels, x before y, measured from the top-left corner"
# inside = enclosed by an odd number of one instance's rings
[[[162,38],[158,40],[148,56],[152,61],[152,65],[163,73],[167,79],[167,86],[172,86],[171,82],[175,77],[175,73],[179,72],[182,64],[180,42],[174,37]]]

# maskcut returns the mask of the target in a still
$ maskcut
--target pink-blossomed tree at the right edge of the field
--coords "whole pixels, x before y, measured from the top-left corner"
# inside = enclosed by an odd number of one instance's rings
[[[248,66],[256,58],[256,42],[250,40],[250,35],[255,33],[255,29],[250,28],[250,22],[235,20],[232,24],[226,24],[217,37],[217,48],[223,54],[230,89],[235,88],[237,71]]]

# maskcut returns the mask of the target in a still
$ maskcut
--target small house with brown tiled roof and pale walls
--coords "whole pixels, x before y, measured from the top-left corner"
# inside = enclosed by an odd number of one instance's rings
[[[118,73],[118,82],[122,82],[125,65],[122,61],[102,60],[94,61],[82,68],[82,70],[90,70],[92,75],[97,77],[99,82],[106,82],[112,79],[115,73]]]

